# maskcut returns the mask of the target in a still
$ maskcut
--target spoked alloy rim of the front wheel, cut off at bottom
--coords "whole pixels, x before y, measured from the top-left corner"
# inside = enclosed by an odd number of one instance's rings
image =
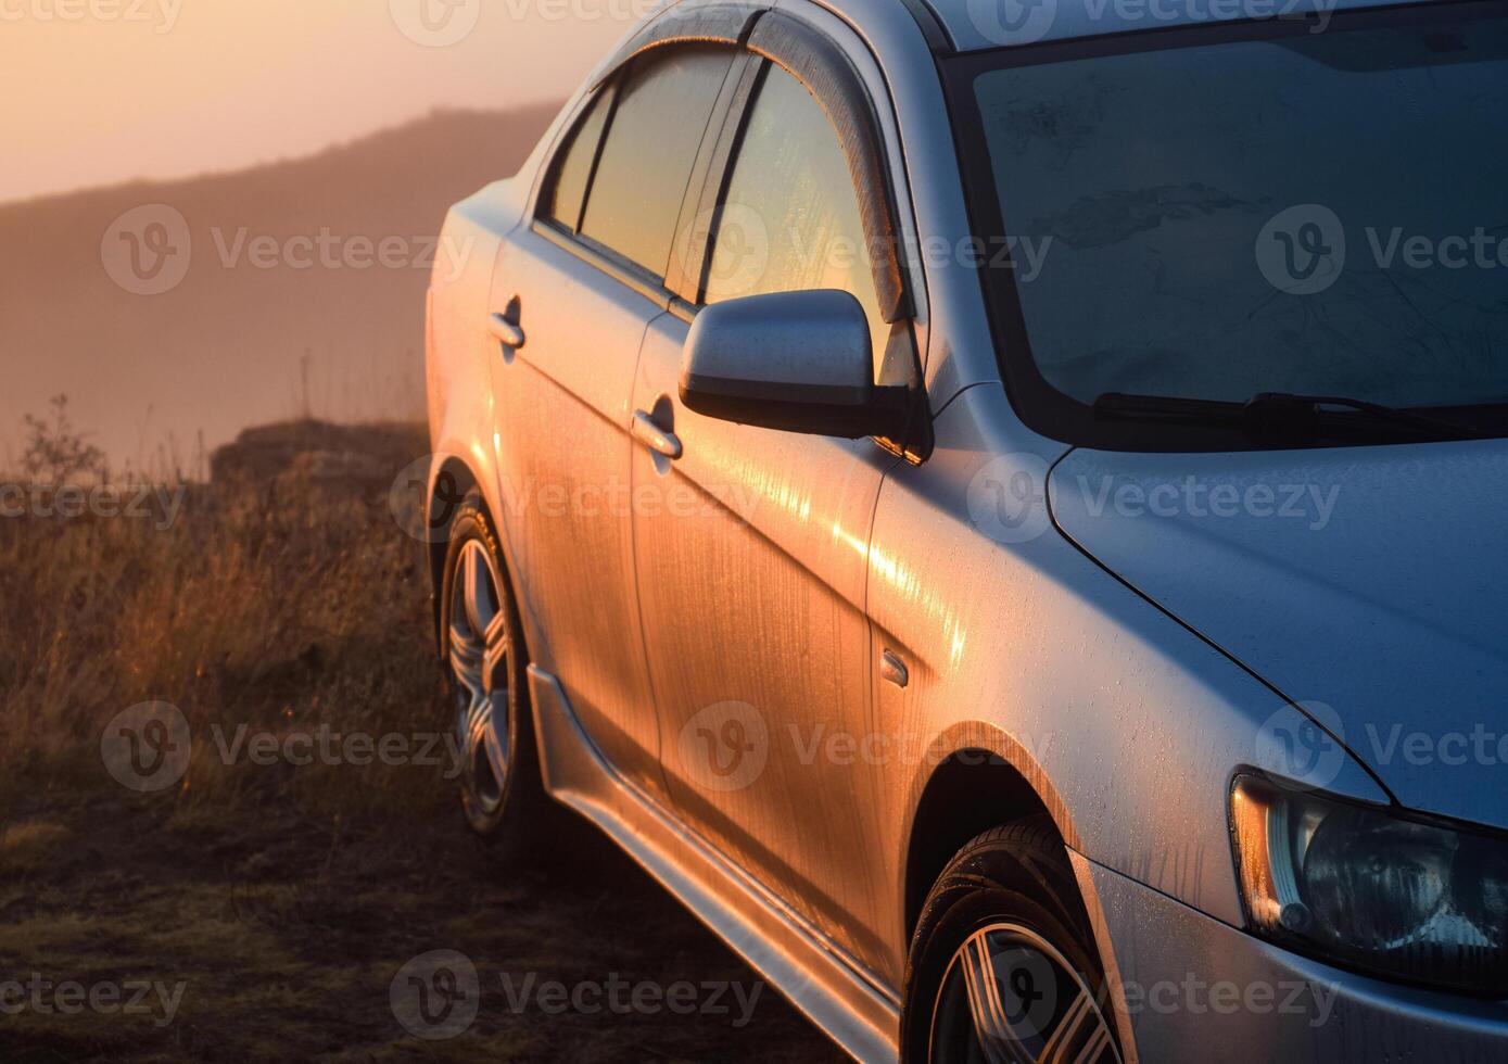
[[[1016,924],[958,948],[932,1008],[932,1064],[1120,1064],[1095,995],[1062,952]]]

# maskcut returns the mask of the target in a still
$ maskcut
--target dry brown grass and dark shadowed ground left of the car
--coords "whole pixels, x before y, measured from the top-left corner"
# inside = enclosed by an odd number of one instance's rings
[[[446,728],[424,547],[386,496],[424,436],[374,431],[371,449],[383,473],[363,466],[365,487],[293,461],[243,491],[196,488],[169,529],[0,520],[0,984],[182,986],[172,1023],[0,1011],[0,1059],[834,1059],[768,989],[742,1028],[513,1011],[502,974],[756,983],[575,820],[502,867],[466,833],[445,764],[225,763],[214,728]],[[100,741],[148,701],[188,717],[193,760],[178,787],[136,794]],[[475,962],[481,1016],[421,1041],[389,986],[442,948]]]

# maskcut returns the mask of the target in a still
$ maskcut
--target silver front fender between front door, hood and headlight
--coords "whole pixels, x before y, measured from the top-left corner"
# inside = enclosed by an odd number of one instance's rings
[[[1240,924],[1229,779],[1259,763],[1264,720],[1292,708],[1062,537],[1045,502],[1060,455],[1016,451],[1010,423],[998,387],[965,392],[932,458],[887,478],[875,518],[870,615],[911,671],[905,690],[881,687],[875,722],[903,752],[876,794],[894,910],[942,737],[998,729],[1015,746],[992,752],[1053,781],[1045,803],[1071,845]],[[1028,488],[1015,524],[994,509],[1001,484]],[[1350,760],[1332,788],[1387,800]]]

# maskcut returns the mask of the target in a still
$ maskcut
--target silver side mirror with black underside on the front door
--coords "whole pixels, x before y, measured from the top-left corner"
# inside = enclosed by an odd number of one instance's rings
[[[781,292],[697,313],[682,360],[689,410],[784,433],[900,436],[909,393],[875,386],[864,307],[847,292]]]

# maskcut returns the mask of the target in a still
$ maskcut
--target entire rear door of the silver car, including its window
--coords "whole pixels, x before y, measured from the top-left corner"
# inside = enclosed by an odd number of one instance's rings
[[[657,48],[599,89],[493,276],[499,496],[531,651],[608,760],[657,794],[629,399],[645,327],[670,301],[676,222],[731,60],[728,48]]]

